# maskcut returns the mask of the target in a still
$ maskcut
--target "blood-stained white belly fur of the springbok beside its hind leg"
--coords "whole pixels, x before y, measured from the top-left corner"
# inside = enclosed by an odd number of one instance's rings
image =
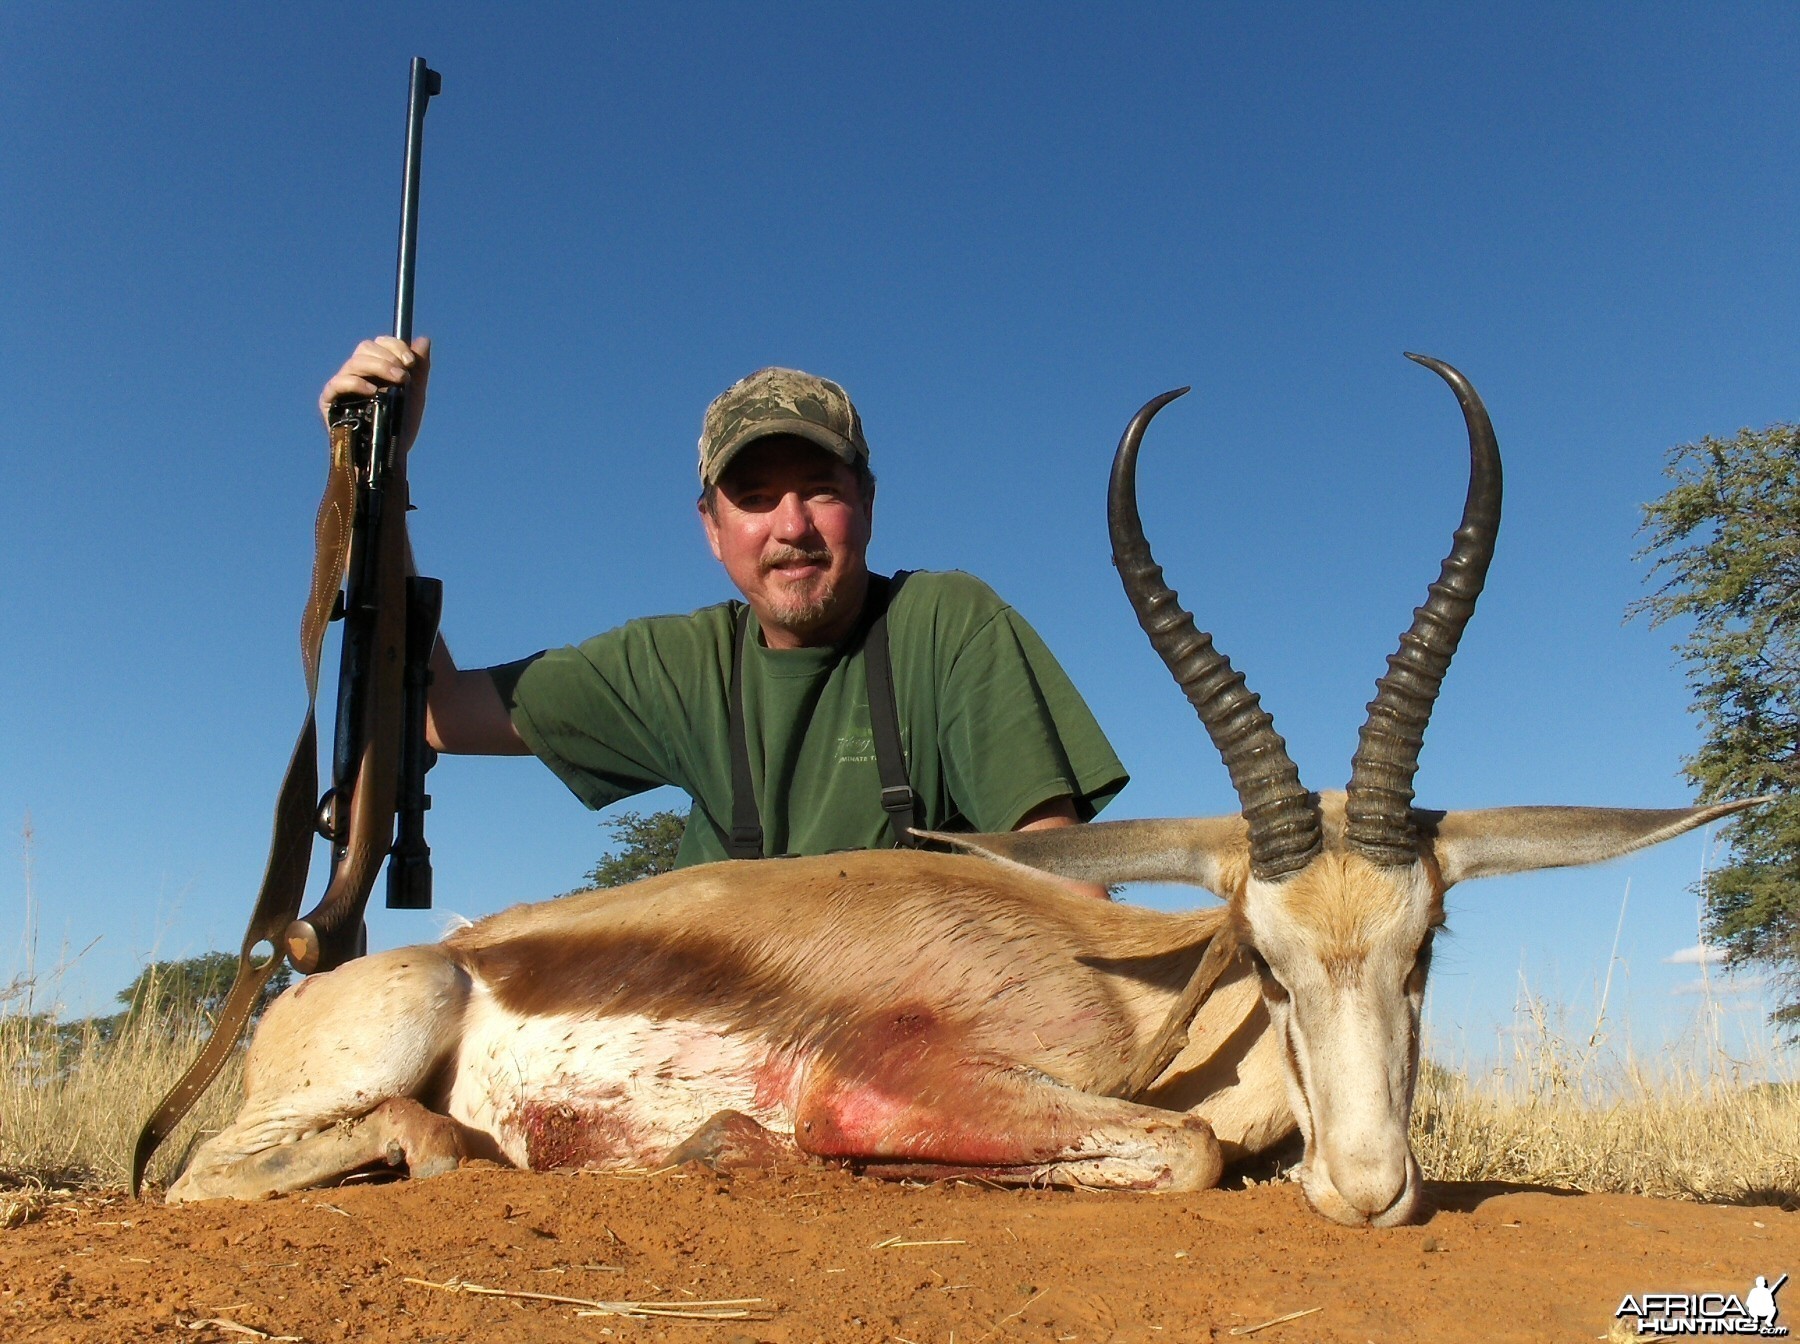
[[[716,1026],[520,1017],[477,984],[450,1116],[518,1166],[652,1166],[720,1110],[792,1135],[790,1074],[767,1042]]]

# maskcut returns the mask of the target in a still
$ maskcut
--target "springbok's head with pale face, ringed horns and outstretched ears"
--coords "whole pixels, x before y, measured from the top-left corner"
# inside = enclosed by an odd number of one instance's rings
[[[1469,426],[1469,495],[1451,552],[1388,659],[1343,793],[1310,793],[1242,673],[1163,581],[1138,515],[1138,446],[1165,392],[1132,419],[1112,461],[1112,563],[1138,621],[1224,757],[1235,817],[1127,820],[1015,835],[945,837],[1087,882],[1188,882],[1222,896],[1262,979],[1305,1139],[1300,1180],[1341,1223],[1395,1225],[1424,1211],[1408,1142],[1418,1013],[1444,892],[1465,878],[1595,864],[1737,811],[1494,808],[1426,811],[1413,775],[1431,705],[1474,612],[1499,529],[1499,448],[1456,369],[1409,354],[1456,392]]]

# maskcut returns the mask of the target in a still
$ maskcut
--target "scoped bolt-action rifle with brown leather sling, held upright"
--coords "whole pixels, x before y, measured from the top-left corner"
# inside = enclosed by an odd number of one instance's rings
[[[394,282],[394,335],[409,345],[425,106],[441,86],[439,74],[414,56]],[[331,407],[331,470],[313,527],[311,590],[301,612],[306,720],[275,799],[268,865],[238,952],[236,979],[200,1058],[144,1121],[131,1155],[133,1196],[151,1155],[243,1036],[283,954],[308,975],[362,955],[362,916],[383,858],[389,858],[389,907],[432,903],[425,772],[437,754],[425,741],[425,694],[443,585],[407,574],[407,459],[398,443],[403,417],[405,390],[398,387]],[[344,621],[344,639],[331,788],[320,799],[319,664],[326,626],[337,619]],[[331,842],[331,878],[313,910],[297,918],[315,831]]]

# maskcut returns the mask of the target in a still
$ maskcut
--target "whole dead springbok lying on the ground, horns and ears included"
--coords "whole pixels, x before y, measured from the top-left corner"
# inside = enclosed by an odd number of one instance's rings
[[[709,864],[522,905],[439,945],[302,981],[265,1015],[236,1121],[169,1200],[297,1189],[387,1162],[765,1162],[887,1177],[1202,1189],[1296,1124],[1319,1213],[1422,1209],[1408,1117],[1444,892],[1591,864],[1748,802],[1422,811],[1433,698],[1499,522],[1499,453],[1449,365],[1471,484],[1442,576],[1379,682],[1345,793],[1309,793],[1244,678],[1161,578],[1136,507],[1145,428],[1112,464],[1114,563],[1224,756],[1242,813],[938,837]],[[1067,892],[1190,882],[1166,914]]]

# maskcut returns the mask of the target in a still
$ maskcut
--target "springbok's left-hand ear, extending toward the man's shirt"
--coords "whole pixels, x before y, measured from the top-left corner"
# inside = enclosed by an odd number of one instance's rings
[[[1249,828],[1238,815],[1089,822],[990,835],[914,835],[997,864],[1078,882],[1186,882],[1229,900],[1249,876]]]

